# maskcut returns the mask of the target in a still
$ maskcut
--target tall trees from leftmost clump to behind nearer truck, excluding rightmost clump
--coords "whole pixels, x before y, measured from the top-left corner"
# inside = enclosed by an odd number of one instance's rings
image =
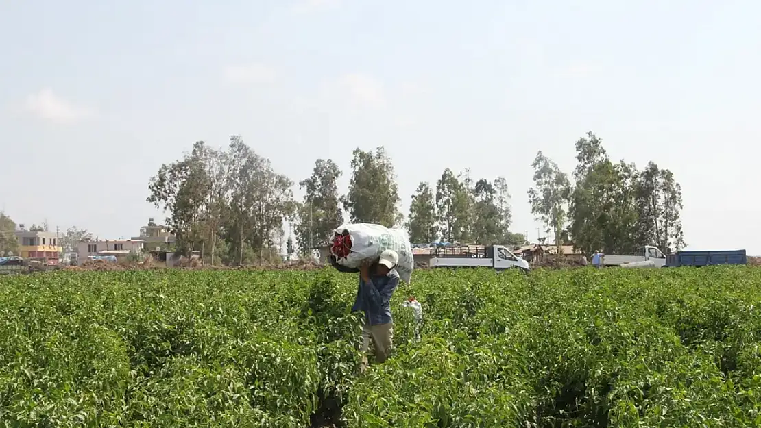
[[[511,214],[504,178],[470,179],[444,170],[434,189],[420,183],[409,215],[400,211],[393,163],[384,147],[355,149],[349,190],[341,195],[342,170],[330,159],[317,159],[298,182],[304,197],[296,201],[294,183],[277,173],[240,136],[215,149],[203,141],[180,160],[163,164],[148,184],[148,201],[165,210],[167,226],[180,252],[200,251],[210,261],[245,264],[273,259],[285,245],[291,256],[325,246],[345,220],[387,227],[405,226],[413,243],[439,239],[461,243],[524,243],[508,232]],[[285,239],[284,225],[295,233]]]

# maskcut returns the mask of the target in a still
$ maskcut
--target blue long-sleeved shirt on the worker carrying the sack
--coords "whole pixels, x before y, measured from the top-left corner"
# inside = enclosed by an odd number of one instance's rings
[[[365,322],[370,325],[393,322],[390,300],[397,285],[399,274],[393,269],[383,276],[371,274],[368,282],[360,275],[352,311],[365,311]]]

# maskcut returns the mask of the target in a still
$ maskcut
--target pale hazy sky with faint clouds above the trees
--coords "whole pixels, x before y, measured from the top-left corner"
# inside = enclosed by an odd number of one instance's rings
[[[674,173],[688,249],[761,255],[761,2],[465,5],[0,0],[0,210],[135,236],[161,163],[241,135],[295,182],[332,158],[343,192],[383,145],[405,214],[444,168],[505,176],[536,240],[533,157],[570,174],[591,131]]]

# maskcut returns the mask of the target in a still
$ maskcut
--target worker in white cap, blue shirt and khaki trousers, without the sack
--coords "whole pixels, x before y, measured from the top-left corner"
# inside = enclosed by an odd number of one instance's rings
[[[399,255],[386,250],[380,253],[377,263],[363,262],[359,268],[359,287],[352,311],[365,312],[365,325],[362,326],[362,366],[368,365],[367,352],[370,341],[375,347],[375,361],[383,363],[392,348],[393,318],[390,300],[399,284],[396,263]]]

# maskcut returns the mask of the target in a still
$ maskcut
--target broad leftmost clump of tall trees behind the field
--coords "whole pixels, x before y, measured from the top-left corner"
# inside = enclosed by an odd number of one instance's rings
[[[233,135],[226,151],[197,141],[181,160],[161,165],[148,182],[147,201],[167,212],[178,252],[209,253],[213,265],[222,237],[224,258],[243,264],[247,248],[257,260],[269,258],[274,237],[295,211],[291,185]]]

